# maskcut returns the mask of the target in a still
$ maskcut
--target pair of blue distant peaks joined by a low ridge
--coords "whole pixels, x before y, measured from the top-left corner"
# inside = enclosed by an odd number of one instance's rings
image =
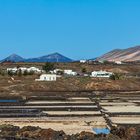
[[[29,58],[29,59],[24,59],[21,56],[17,54],[12,54],[8,56],[7,58],[3,59],[1,62],[4,61],[12,61],[12,62],[72,62],[73,60],[63,56],[59,53],[53,53],[37,58]]]

